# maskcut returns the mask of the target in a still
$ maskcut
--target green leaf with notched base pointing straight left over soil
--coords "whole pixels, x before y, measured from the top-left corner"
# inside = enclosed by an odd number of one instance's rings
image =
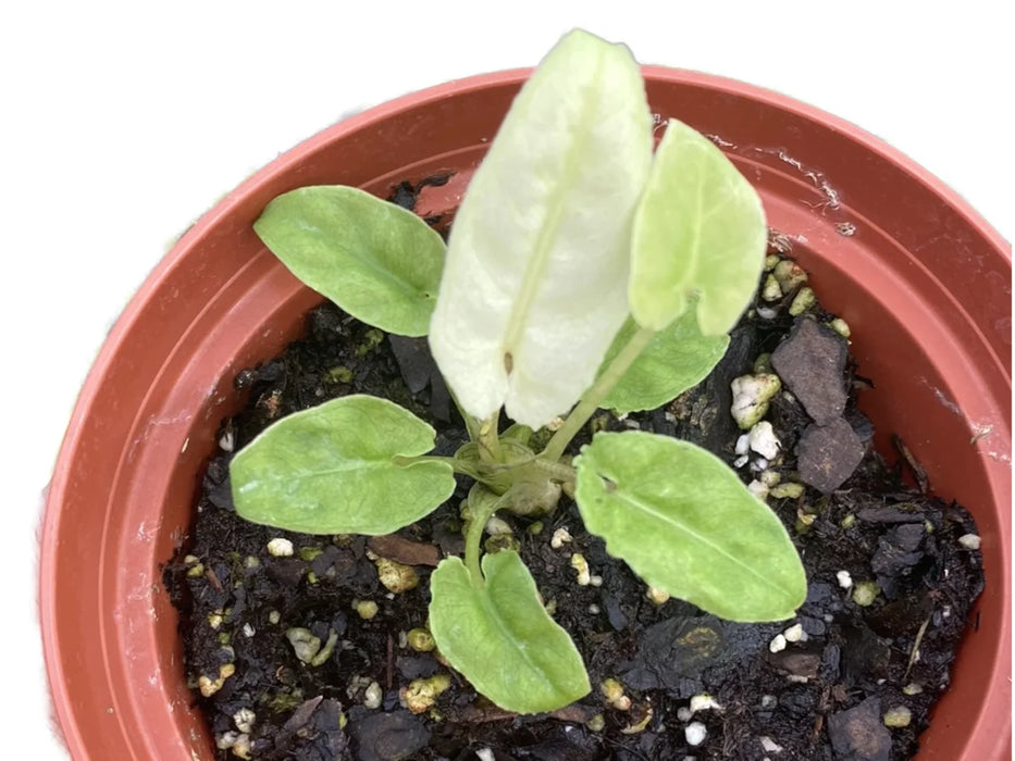
[[[284,417],[233,458],[236,512],[307,534],[389,534],[444,502],[451,466],[425,454],[434,429],[376,397],[348,396]]]

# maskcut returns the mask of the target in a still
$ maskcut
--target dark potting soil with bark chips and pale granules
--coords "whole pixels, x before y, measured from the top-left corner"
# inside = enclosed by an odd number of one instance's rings
[[[762,312],[771,315],[765,304]],[[626,420],[603,412],[592,427],[680,436],[732,463],[742,432],[728,412],[730,382],[750,373],[794,325],[799,330],[802,321],[828,316],[812,311],[794,319],[780,309],[765,319],[752,310],[733,332],[726,359],[697,388]],[[575,506],[564,498],[539,533],[531,520],[503,517],[556,621],[581,651],[593,693],[549,716],[517,716],[453,673],[432,711],[407,711],[400,689],[448,672],[433,652],[409,648],[405,634],[426,624],[432,565],[462,551],[458,506],[468,479],[395,541],[246,523],[233,511],[227,475],[233,452],[273,421],[354,392],[388,397],[430,420],[438,431],[437,453],[454,453],[466,433],[425,344],[401,339],[395,348],[397,358],[383,334],[325,304],[309,316],[305,339],[236,378],[249,403],[223,422],[224,446],[208,465],[190,536],[164,573],[181,614],[188,677],[195,686],[202,676],[206,686],[220,685],[208,697],[195,691],[195,700],[220,745],[233,746],[219,751],[221,759],[883,760],[916,751],[982,588],[980,554],[958,542],[976,531],[962,508],[904,486],[902,474],[870,450],[870,425],[855,410],[857,389],[869,382],[855,376],[852,361],[835,382],[847,390],[842,419],[849,435],[865,451],[859,467],[828,494],[808,486],[797,498],[768,499],[807,571],[809,592],[796,619],[733,624],[679,600],[652,602],[644,583],[583,531]],[[794,451],[814,428],[812,416],[796,396],[780,394],[766,420],[785,450],[770,469],[783,483],[800,481]],[[739,472],[745,482],[757,475],[751,462]],[[550,537],[560,527],[572,540],[554,549]],[[292,540],[292,557],[268,551],[276,537]],[[389,592],[379,582],[374,552],[413,564],[419,585]],[[601,586],[575,583],[573,552],[584,554]],[[840,585],[843,571],[851,589]],[[868,606],[853,599],[861,583],[877,584]],[[363,600],[377,604],[372,619],[355,610]],[[772,652],[772,640],[793,624],[804,637]],[[318,666],[305,664],[285,637],[293,627],[321,641],[334,633],[334,653]],[[598,689],[606,677],[623,684],[630,710],[606,704]],[[371,683],[382,694],[374,709],[363,704]],[[703,694],[721,709],[688,715],[691,698]],[[887,728],[883,714],[900,707],[911,712],[908,725]],[[685,735],[691,722],[707,731],[696,747]]]

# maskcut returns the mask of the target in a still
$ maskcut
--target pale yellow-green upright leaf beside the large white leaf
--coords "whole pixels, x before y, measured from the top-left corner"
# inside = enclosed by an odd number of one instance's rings
[[[711,140],[671,118],[634,216],[634,320],[661,330],[697,294],[702,333],[729,333],[757,288],[767,239],[751,184]]]

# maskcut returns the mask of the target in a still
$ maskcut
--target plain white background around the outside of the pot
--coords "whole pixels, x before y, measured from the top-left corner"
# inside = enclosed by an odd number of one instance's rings
[[[65,758],[47,718],[36,531],[96,351],[183,229],[343,115],[533,65],[583,26],[643,63],[743,79],[845,117],[1015,234],[1012,13],[1000,0],[12,5],[0,11],[0,472],[13,486],[0,498],[0,721],[41,746],[18,758]]]

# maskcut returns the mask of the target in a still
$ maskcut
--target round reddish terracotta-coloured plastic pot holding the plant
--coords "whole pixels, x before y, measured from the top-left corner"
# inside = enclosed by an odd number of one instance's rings
[[[40,609],[55,715],[75,759],[208,759],[176,614],[160,579],[187,532],[232,378],[277,352],[320,299],[251,223],[278,194],[343,183],[379,194],[456,171],[421,211],[453,208],[527,71],[474,77],[342,122],[250,177],[159,264],[116,323],[60,452],[41,539]],[[987,589],[924,761],[1011,746],[1011,254],[952,191],[853,125],[782,96],[646,67],[649,102],[716,137],[822,303],[852,326],[862,397],[933,488],[975,515]],[[430,194],[430,195],[426,195]],[[890,450],[881,441],[886,452]]]

